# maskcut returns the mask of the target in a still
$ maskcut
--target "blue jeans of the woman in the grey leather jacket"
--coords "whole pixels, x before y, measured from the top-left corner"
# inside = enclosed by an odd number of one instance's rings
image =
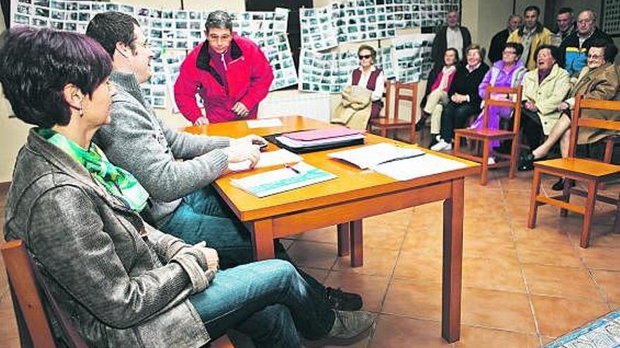
[[[309,296],[311,289],[289,262],[266,260],[218,271],[209,288],[190,296],[211,337],[235,328],[256,348],[301,347],[327,335],[334,311]]]

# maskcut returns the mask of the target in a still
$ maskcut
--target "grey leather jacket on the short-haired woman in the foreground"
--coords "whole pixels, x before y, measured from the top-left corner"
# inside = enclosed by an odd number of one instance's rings
[[[169,262],[185,243],[144,224],[32,130],[17,157],[4,231],[6,240],[24,241],[90,347],[200,347],[209,340],[187,299],[195,290],[187,265]]]

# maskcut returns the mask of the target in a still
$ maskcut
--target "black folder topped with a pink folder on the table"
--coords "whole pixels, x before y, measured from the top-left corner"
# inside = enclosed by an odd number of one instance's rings
[[[291,149],[318,148],[321,146],[349,146],[364,142],[364,133],[347,127],[328,127],[311,131],[295,131],[277,136],[282,145]]]

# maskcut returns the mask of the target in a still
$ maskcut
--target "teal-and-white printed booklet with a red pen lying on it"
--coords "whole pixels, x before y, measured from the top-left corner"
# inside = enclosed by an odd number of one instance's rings
[[[272,170],[261,174],[246,176],[242,179],[230,181],[234,186],[252,193],[259,198],[273,195],[284,191],[308,186],[335,179],[337,176],[325,172],[304,162],[299,162],[292,167]]]

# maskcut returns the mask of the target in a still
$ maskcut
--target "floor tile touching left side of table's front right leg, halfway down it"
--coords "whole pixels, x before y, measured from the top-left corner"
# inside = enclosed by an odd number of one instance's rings
[[[441,283],[442,258],[435,255],[401,252],[394,276],[411,281]]]

